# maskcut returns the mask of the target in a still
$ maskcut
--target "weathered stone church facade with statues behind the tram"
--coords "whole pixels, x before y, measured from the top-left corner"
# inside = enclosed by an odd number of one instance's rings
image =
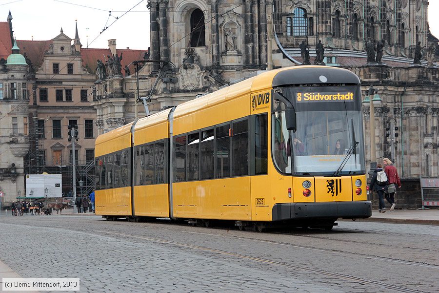
[[[439,176],[438,39],[429,34],[427,0],[149,0],[151,47],[145,59],[169,62],[149,110],[179,105],[256,70],[300,65],[299,44],[325,46],[324,62],[347,68],[382,100],[375,107],[375,157],[392,156],[404,178]],[[385,40],[382,63],[367,63],[365,43]],[[413,64],[416,44],[423,60]],[[142,63],[143,64],[143,63]],[[98,134],[143,117],[159,66],[96,83]],[[366,160],[370,113],[364,107]],[[385,128],[398,127],[391,150]]]

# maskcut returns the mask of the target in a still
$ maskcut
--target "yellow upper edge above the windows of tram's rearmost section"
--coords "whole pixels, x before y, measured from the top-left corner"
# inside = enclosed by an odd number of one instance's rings
[[[133,122],[98,136],[95,143],[95,157],[130,147],[132,125]],[[105,146],[100,147],[101,144],[108,143],[110,141],[112,142],[111,144],[105,144]]]

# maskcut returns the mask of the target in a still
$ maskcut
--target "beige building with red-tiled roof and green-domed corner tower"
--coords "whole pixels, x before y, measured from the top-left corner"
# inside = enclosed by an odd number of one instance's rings
[[[96,100],[96,61],[123,54],[125,73],[134,72],[130,64],[142,59],[145,50],[116,50],[114,39],[108,48],[83,48],[77,27],[74,39],[61,28],[51,40],[17,40],[14,46],[11,13],[7,22],[0,22],[0,44],[0,58],[8,60],[0,60],[0,190],[7,190],[5,202],[25,195],[24,174],[42,172],[62,174],[63,195],[71,195],[70,125],[78,126],[77,194],[90,193],[99,127],[91,105]],[[12,185],[5,180],[13,180]]]

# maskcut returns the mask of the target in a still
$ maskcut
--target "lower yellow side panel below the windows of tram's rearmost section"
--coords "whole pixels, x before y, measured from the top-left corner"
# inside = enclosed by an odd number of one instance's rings
[[[112,188],[95,191],[95,211],[103,216],[131,215],[131,188]]]

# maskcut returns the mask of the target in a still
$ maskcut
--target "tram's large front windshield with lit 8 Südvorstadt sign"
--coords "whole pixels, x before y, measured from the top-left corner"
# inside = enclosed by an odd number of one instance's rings
[[[287,130],[287,106],[275,97],[272,148],[279,171],[295,175],[365,173],[359,87],[287,87],[282,88],[282,95],[296,109],[297,130]]]

